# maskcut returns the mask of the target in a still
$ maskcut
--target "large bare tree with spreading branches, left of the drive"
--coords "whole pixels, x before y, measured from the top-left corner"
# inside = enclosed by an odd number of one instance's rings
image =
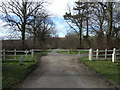
[[[7,25],[11,26],[15,31],[20,31],[22,36],[22,45],[25,45],[25,32],[26,25],[31,19],[33,13],[40,12],[43,8],[43,1],[33,2],[28,0],[11,0],[9,2],[2,2],[0,8],[2,9],[2,19],[7,22]]]

